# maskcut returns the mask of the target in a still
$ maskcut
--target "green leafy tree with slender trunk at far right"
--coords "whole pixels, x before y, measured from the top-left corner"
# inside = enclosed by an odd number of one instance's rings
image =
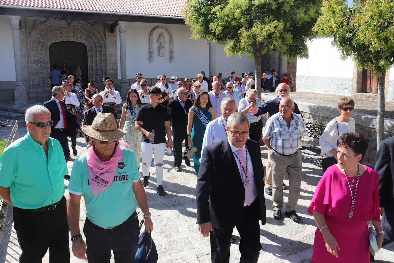
[[[394,2],[359,0],[348,7],[342,0],[324,0],[314,27],[322,36],[333,36],[342,56],[352,56],[359,70],[370,67],[378,77],[377,148],[384,139],[385,78],[394,63]]]

